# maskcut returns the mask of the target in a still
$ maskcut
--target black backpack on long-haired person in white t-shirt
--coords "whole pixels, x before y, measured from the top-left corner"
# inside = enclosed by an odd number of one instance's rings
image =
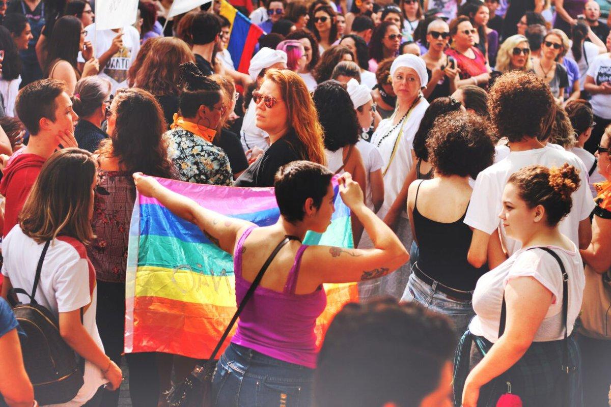
[[[45,243],[38,260],[32,295],[21,288],[9,291],[15,317],[27,335],[20,335],[21,353],[27,375],[34,386],[34,398],[41,406],[69,402],[84,383],[84,359],[76,355],[62,339],[56,317],[34,299],[49,243]],[[16,300],[16,294],[27,295],[30,303],[22,304]]]

